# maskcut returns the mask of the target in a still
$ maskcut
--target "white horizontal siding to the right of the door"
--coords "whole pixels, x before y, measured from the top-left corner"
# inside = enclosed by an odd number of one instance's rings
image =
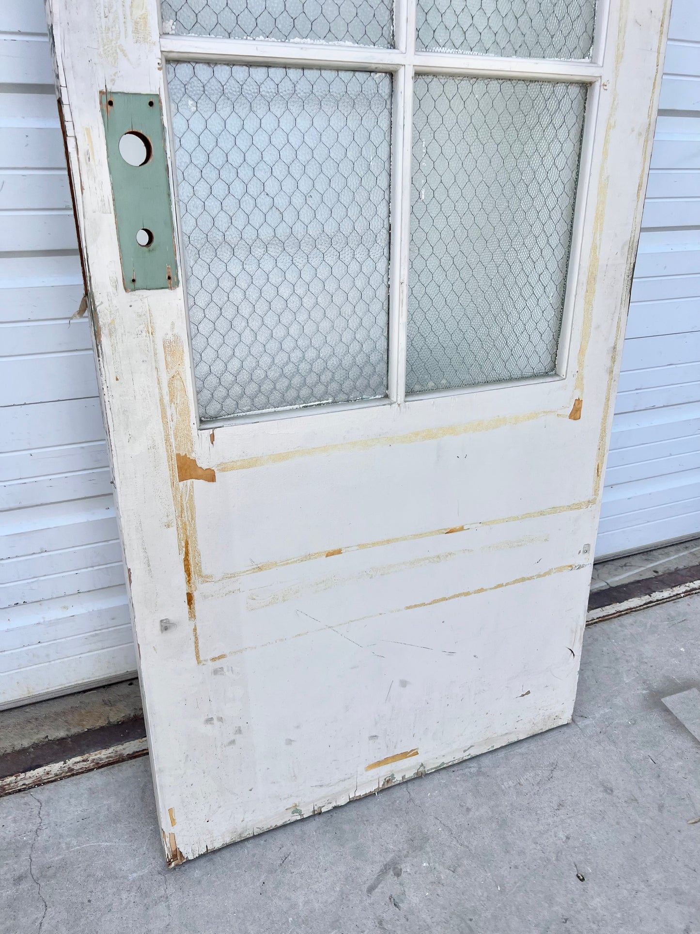
[[[596,556],[700,535],[700,4],[673,0]]]

